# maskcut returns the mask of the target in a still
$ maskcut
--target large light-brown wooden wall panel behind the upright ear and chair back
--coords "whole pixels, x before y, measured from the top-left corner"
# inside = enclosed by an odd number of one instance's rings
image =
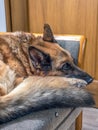
[[[28,0],[28,7],[30,32],[40,33],[43,24],[49,23],[56,34],[87,37],[84,69],[98,79],[98,0]]]

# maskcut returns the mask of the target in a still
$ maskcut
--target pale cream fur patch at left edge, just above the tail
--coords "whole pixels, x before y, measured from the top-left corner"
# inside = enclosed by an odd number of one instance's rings
[[[8,65],[0,61],[0,95],[3,96],[14,88],[15,73]]]

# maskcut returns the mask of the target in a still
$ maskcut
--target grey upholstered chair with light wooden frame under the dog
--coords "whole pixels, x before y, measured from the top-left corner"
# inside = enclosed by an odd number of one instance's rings
[[[85,37],[77,35],[55,36],[58,43],[68,49],[79,67],[83,67]],[[31,113],[0,126],[1,130],[81,130],[81,108],[51,109]],[[77,119],[77,120],[76,120]],[[78,123],[79,122],[79,123]],[[75,125],[76,124],[76,125]]]

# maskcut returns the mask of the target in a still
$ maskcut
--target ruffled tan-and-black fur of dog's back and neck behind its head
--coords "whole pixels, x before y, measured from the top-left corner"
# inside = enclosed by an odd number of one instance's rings
[[[17,77],[33,74],[28,57],[28,46],[33,38],[23,32],[0,35],[0,59],[15,71]]]

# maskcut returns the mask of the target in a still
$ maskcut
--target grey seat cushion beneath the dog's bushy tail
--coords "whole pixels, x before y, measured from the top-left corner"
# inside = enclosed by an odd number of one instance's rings
[[[80,109],[51,109],[35,112],[0,126],[0,130],[54,130],[67,120],[66,128],[75,121]],[[73,116],[72,113],[74,112]],[[75,114],[76,113],[76,114]],[[71,121],[68,121],[70,117]],[[71,123],[71,124],[70,124]]]

